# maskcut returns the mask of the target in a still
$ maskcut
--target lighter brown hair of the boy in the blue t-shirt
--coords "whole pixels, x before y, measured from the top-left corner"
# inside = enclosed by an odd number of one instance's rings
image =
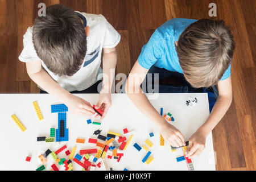
[[[231,63],[234,47],[223,20],[192,23],[180,35],[176,47],[184,77],[195,88],[216,85]]]

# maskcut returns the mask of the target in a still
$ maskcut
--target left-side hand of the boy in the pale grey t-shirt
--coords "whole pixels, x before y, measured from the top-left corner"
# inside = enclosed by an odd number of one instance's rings
[[[68,109],[75,114],[92,116],[95,113],[89,102],[72,94],[68,97],[68,100],[65,102],[65,104],[68,106]]]

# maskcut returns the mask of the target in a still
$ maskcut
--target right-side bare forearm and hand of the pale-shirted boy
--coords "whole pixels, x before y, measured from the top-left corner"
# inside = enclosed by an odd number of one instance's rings
[[[100,92],[100,98],[96,105],[103,111],[101,119],[103,119],[108,113],[111,102],[111,88],[115,76],[115,67],[117,65],[117,50],[116,48],[103,48],[102,55],[102,67],[103,67],[103,78],[102,78],[102,89]]]

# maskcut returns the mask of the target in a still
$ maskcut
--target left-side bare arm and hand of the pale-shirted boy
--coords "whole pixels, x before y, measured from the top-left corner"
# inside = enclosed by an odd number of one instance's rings
[[[58,98],[60,101],[63,101],[64,104],[67,105],[74,113],[84,115],[92,115],[95,113],[89,102],[72,95],[57,84],[57,82],[53,80],[44,69],[42,69],[42,63],[40,60],[26,63],[26,67],[28,76],[30,76],[36,84],[46,90],[49,94]]]

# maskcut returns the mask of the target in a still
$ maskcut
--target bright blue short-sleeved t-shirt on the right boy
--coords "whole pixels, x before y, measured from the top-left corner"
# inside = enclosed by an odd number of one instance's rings
[[[146,69],[150,69],[154,65],[168,71],[183,73],[177,57],[175,42],[179,40],[179,36],[185,28],[196,21],[195,19],[175,18],[157,28],[148,43],[142,47],[138,58],[139,64]],[[231,65],[221,80],[230,77],[230,68]]]

